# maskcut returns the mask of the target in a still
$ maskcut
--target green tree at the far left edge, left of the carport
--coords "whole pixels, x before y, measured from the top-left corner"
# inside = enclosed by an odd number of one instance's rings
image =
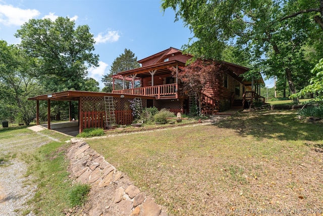
[[[23,51],[0,41],[0,116],[3,119],[29,123],[36,117],[35,106],[29,97],[40,94],[41,87],[30,74],[34,60]]]

